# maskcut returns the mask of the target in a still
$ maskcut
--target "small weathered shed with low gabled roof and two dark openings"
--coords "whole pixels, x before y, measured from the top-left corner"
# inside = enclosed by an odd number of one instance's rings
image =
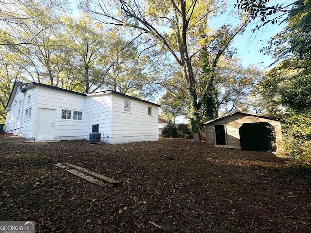
[[[242,150],[282,153],[281,122],[277,117],[233,111],[203,124],[207,144]]]

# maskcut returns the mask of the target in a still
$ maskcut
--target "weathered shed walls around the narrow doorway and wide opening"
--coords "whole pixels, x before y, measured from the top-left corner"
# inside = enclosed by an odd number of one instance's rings
[[[276,131],[276,143],[277,153],[282,153],[282,132],[281,123],[276,120],[265,119],[259,116],[247,116],[245,114],[237,113],[232,116],[226,116],[222,119],[211,122],[206,125],[206,142],[207,144],[216,145],[215,139],[215,125],[225,125],[226,145],[217,145],[218,147],[233,147],[241,148],[239,128],[244,123],[256,123],[256,122],[267,122],[275,128]]]

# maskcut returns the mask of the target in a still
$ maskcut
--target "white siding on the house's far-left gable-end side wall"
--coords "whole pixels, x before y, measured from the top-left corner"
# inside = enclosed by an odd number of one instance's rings
[[[23,113],[23,101],[24,93],[17,87],[17,92],[13,97],[12,105],[6,115],[5,132],[13,133],[14,135],[22,133],[22,113]],[[20,113],[19,112],[19,103]]]

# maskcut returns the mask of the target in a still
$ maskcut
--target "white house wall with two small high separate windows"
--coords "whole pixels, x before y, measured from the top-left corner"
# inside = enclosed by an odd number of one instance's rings
[[[124,111],[124,100],[131,101],[130,113]],[[113,94],[111,144],[158,140],[157,106]]]

